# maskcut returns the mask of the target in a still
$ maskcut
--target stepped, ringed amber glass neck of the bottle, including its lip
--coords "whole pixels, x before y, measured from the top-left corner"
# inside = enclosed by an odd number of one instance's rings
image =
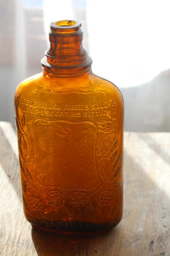
[[[78,76],[91,72],[92,59],[84,48],[81,24],[61,20],[50,24],[50,47],[41,60],[44,72],[55,76]]]

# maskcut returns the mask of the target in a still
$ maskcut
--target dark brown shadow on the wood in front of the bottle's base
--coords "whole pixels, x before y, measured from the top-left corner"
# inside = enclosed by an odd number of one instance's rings
[[[107,233],[96,236],[57,235],[36,228],[32,228],[31,234],[38,256],[107,256],[113,253],[113,243],[119,228],[117,226]]]

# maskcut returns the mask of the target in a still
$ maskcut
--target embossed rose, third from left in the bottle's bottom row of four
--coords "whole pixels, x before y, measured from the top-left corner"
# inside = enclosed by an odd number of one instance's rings
[[[89,196],[84,191],[73,191],[69,195],[70,204],[74,206],[85,206],[86,202],[88,201]]]

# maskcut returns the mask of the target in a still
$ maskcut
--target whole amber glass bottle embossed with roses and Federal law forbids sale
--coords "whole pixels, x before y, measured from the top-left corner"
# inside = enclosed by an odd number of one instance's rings
[[[92,74],[80,27],[50,24],[42,73],[15,93],[26,219],[66,234],[103,232],[122,218],[122,94]]]

